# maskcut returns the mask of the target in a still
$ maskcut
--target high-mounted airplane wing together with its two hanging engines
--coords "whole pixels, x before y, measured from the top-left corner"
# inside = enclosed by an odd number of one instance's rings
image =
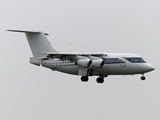
[[[59,53],[59,52],[43,52],[47,58],[58,58],[60,60],[71,60],[75,61],[75,64],[83,68],[96,67],[102,68],[105,65],[103,56],[106,53]]]

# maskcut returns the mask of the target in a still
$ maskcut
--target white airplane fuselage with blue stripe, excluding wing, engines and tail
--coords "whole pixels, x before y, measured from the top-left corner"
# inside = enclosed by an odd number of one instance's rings
[[[96,76],[108,76],[108,75],[133,75],[144,74],[146,72],[154,70],[154,67],[143,61],[143,59],[135,54],[129,53],[106,53],[101,57],[105,65],[102,68],[89,67],[83,68],[75,64],[75,61],[59,59],[43,60],[42,66],[57,70],[60,72],[85,75],[88,69],[92,70],[92,75]]]

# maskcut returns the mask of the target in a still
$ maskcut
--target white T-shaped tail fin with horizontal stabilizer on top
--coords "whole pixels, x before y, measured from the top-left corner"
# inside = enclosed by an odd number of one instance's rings
[[[56,52],[55,49],[49,43],[46,33],[41,31],[24,31],[24,30],[8,30],[11,32],[23,32],[25,33],[28,43],[30,45],[32,54],[34,57],[45,57],[42,52]]]

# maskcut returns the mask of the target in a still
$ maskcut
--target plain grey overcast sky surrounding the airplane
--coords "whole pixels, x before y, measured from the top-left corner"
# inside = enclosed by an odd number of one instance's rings
[[[156,70],[82,83],[31,65],[25,35],[7,29],[42,30],[62,52],[135,53]],[[160,119],[159,0],[1,0],[0,41],[0,120]]]

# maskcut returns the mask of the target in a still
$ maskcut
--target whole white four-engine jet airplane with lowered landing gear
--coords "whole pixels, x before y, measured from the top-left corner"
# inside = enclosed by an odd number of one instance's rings
[[[134,75],[153,71],[154,66],[142,57],[131,53],[63,53],[56,51],[46,35],[39,30],[7,30],[25,33],[33,57],[30,63],[72,75],[80,75],[81,81],[87,82],[90,76],[98,76],[97,83],[103,83],[109,75]]]

